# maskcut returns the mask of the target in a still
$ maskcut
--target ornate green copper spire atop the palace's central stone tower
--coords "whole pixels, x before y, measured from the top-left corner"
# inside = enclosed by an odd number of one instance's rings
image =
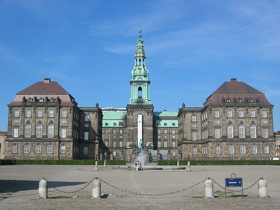
[[[129,104],[151,104],[149,71],[146,64],[141,25],[134,56],[134,66],[131,71]]]

